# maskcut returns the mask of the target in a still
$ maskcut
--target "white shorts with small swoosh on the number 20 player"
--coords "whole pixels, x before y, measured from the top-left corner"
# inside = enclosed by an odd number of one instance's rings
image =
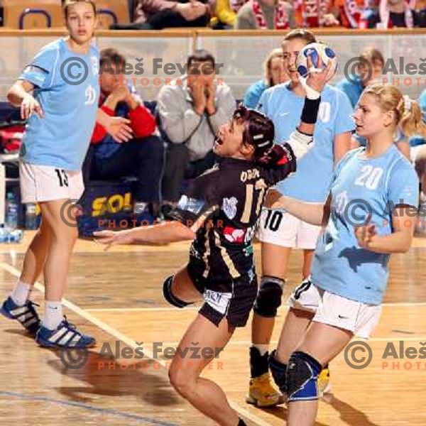
[[[290,307],[315,312],[312,321],[349,330],[368,339],[381,317],[381,305],[368,305],[317,288],[309,280],[295,288],[288,300]]]

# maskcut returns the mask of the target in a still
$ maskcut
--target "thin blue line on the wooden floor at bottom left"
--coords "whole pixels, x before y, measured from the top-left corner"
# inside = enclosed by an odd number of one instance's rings
[[[114,415],[116,417],[125,418],[128,420],[136,420],[136,422],[143,423],[144,425],[148,424],[148,425],[160,425],[160,426],[178,426],[177,423],[162,422],[161,420],[155,420],[150,417],[142,417],[136,414],[124,413],[124,411],[114,410],[113,408],[100,408],[100,407],[95,407],[94,405],[77,403],[75,401],[56,400],[54,398],[48,398],[45,396],[28,395],[27,393],[7,392],[7,391],[0,391],[0,397],[1,396],[18,398],[21,400],[32,400],[32,401],[37,401],[42,403],[51,403],[56,405],[65,405],[66,407],[84,408],[85,410],[96,411],[97,413],[101,413],[101,414],[109,414],[109,415]]]

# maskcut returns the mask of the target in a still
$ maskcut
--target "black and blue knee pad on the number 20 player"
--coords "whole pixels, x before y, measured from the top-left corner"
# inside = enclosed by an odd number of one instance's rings
[[[309,354],[293,352],[285,376],[288,401],[318,399],[317,379],[321,369],[321,364]]]

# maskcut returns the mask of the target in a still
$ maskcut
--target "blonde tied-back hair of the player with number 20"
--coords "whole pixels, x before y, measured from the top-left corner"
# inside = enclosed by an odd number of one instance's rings
[[[382,111],[394,111],[395,126],[399,126],[405,136],[426,136],[426,124],[423,122],[419,104],[409,97],[404,97],[395,86],[371,84],[364,89],[364,94],[373,94]]]

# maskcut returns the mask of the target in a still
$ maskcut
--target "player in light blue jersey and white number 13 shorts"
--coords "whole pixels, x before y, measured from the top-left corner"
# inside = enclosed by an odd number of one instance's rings
[[[128,121],[111,118],[97,107],[99,52],[92,43],[97,13],[94,1],[67,0],[69,32],[45,45],[8,93],[28,119],[20,153],[24,203],[40,204],[40,229],[29,246],[21,276],[1,313],[21,322],[41,346],[84,348],[95,343],[62,316],[62,296],[72,249],[77,240],[76,209],[84,190],[82,163],[95,121],[116,141],[131,137]],[[45,312],[40,321],[29,299],[41,271]]]

